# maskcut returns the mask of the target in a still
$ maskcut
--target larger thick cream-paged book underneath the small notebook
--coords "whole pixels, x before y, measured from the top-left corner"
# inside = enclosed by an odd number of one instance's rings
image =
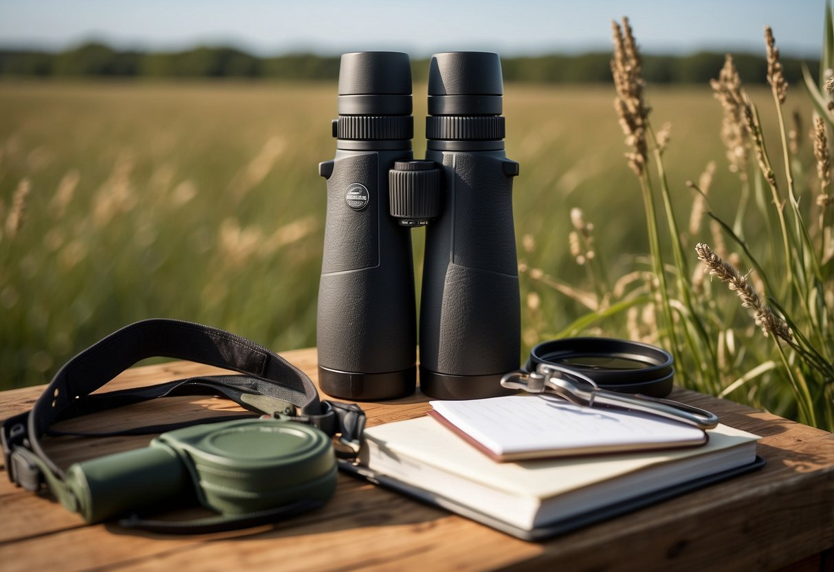
[[[756,469],[753,434],[725,425],[702,447],[497,463],[428,416],[365,430],[342,469],[522,539],[608,519]]]

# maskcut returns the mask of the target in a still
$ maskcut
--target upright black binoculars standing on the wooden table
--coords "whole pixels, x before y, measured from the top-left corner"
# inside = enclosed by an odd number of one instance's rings
[[[495,53],[431,58],[425,160],[414,160],[405,53],[347,53],[336,154],[319,164],[327,217],[319,283],[319,385],[344,399],[414,392],[417,309],[409,229],[425,226],[420,389],[505,394],[520,360],[520,298],[503,79]]]

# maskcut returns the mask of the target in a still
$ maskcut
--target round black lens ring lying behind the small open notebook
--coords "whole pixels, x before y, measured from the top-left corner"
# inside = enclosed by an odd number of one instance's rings
[[[666,397],[675,377],[674,359],[650,344],[614,338],[565,338],[536,345],[525,370],[539,364],[570,368],[592,378],[600,389]]]

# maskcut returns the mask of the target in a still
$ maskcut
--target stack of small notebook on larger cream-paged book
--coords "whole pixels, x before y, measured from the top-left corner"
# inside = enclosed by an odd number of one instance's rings
[[[756,435],[542,396],[434,401],[365,430],[343,469],[543,539],[757,469]]]

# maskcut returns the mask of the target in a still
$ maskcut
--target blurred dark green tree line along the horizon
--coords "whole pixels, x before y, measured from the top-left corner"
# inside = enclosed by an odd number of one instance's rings
[[[507,81],[543,83],[603,83],[610,81],[610,53],[535,58],[502,58]],[[734,54],[746,83],[764,83],[764,57]],[[790,83],[801,80],[801,62],[782,58]],[[723,53],[688,56],[646,56],[643,76],[651,83],[706,83],[716,78]],[[811,71],[819,62],[807,60]],[[428,61],[414,62],[414,78],[426,78]],[[236,48],[193,48],[175,53],[118,51],[101,43],[86,43],[61,53],[0,49],[0,77],[41,78],[276,78],[332,80],[339,75],[339,58],[290,54],[259,58]]]

